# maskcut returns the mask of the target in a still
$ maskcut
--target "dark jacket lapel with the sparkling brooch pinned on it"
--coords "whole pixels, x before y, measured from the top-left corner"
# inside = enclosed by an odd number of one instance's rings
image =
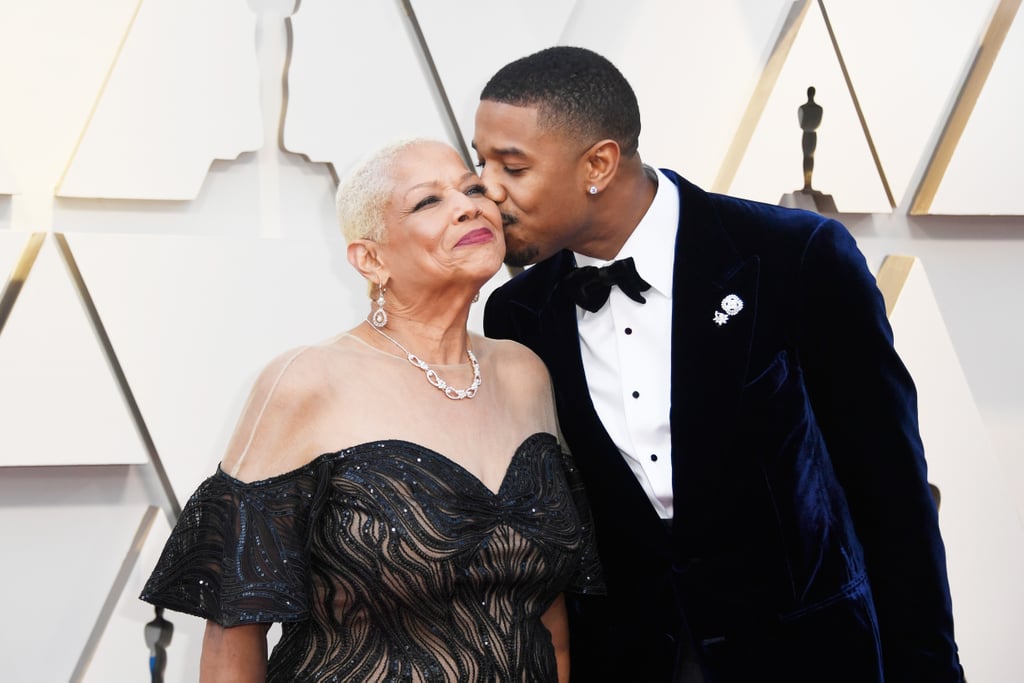
[[[757,319],[759,261],[743,258],[709,196],[671,171],[679,186],[672,319],[672,458],[683,550],[729,505],[729,441],[748,376]],[[729,315],[723,299],[741,310]]]

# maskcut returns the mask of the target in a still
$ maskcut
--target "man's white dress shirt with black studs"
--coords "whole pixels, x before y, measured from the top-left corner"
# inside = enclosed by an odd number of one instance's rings
[[[651,505],[672,518],[672,274],[679,194],[657,172],[654,201],[613,260],[632,256],[650,284],[637,303],[617,287],[597,312],[577,307],[580,350],[598,417]],[[611,261],[575,254],[577,265]]]

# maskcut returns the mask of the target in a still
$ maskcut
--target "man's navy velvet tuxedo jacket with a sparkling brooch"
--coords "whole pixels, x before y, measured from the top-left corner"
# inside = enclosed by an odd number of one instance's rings
[[[958,681],[913,384],[853,238],[672,171],[675,519],[591,402],[561,252],[488,299],[488,336],[547,364],[606,597],[570,597],[574,681]],[[642,264],[640,274],[643,275]],[[730,294],[743,308],[719,325]]]

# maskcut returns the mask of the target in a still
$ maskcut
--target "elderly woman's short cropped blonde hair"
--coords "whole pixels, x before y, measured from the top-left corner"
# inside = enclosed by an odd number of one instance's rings
[[[386,144],[362,160],[338,184],[335,208],[345,242],[387,239],[384,210],[394,191],[394,163],[403,152],[424,142],[438,142],[417,137]]]

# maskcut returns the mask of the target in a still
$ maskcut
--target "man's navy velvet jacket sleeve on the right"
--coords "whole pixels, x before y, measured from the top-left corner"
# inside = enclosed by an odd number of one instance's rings
[[[800,285],[801,368],[863,545],[886,679],[959,681],[916,391],[874,278],[842,224],[823,220],[808,241]]]

